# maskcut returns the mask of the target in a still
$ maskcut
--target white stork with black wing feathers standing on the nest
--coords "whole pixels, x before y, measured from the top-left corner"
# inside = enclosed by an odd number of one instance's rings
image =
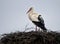
[[[44,19],[40,14],[34,11],[33,7],[30,7],[26,14],[28,14],[28,17],[32,21],[32,23],[36,25],[36,29],[35,29],[36,31],[37,31],[37,27],[41,28],[43,31],[47,31],[45,27]]]

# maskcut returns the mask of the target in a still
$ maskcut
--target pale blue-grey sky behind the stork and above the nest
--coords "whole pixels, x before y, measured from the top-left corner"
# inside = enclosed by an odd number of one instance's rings
[[[42,15],[48,30],[60,31],[60,0],[0,0],[0,34],[34,27],[26,14],[30,7]]]

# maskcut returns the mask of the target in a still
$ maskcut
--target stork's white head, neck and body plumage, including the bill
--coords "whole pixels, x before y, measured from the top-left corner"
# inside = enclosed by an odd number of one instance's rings
[[[39,20],[38,20],[39,14],[34,11],[34,8],[31,7],[31,8],[28,10],[27,13],[28,13],[28,17],[29,17],[29,19],[30,19],[31,21],[39,22]]]

